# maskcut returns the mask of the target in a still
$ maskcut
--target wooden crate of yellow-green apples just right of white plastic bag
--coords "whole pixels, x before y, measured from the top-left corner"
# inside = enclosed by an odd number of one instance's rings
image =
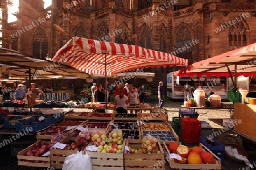
[[[126,139],[123,139],[121,154],[101,153],[86,151],[90,155],[93,170],[123,170],[123,152],[125,151]],[[104,158],[104,159],[102,159]],[[114,159],[114,160],[109,160]],[[107,165],[102,166],[102,165]]]

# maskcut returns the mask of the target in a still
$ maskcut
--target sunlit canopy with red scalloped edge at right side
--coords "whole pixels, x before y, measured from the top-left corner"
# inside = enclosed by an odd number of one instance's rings
[[[256,76],[256,43],[195,62],[174,73],[175,76]]]

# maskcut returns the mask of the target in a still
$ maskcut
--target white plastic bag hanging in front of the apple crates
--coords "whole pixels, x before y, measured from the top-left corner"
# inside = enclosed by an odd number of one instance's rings
[[[90,156],[77,151],[76,154],[68,155],[63,163],[63,170],[92,170]]]

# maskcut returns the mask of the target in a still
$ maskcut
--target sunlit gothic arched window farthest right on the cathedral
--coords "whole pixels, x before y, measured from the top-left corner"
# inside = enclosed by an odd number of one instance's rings
[[[246,46],[246,28],[242,21],[229,27],[229,49]]]

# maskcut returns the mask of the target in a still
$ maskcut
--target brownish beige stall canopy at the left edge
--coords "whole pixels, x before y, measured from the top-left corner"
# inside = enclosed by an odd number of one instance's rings
[[[89,76],[71,66],[63,65],[61,62],[31,58],[30,56],[6,48],[0,48],[1,66],[9,68],[9,77],[11,79],[28,78],[29,69],[31,76],[34,75],[34,79],[47,79],[49,76],[77,78]]]

